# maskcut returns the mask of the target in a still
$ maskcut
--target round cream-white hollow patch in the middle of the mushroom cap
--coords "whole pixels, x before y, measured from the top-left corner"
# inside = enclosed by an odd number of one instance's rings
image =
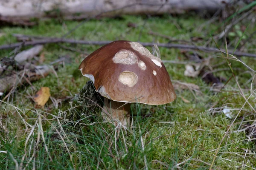
[[[128,87],[133,87],[138,82],[138,76],[134,72],[131,71],[123,71],[119,75],[119,82],[122,82],[124,85],[128,85]]]

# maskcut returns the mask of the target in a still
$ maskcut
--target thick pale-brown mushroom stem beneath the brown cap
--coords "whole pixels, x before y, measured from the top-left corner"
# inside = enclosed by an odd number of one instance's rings
[[[116,121],[120,121],[122,125],[127,126],[130,125],[129,110],[130,103],[125,105],[124,102],[115,102],[104,97],[104,106],[101,114],[105,121],[113,121],[115,125],[118,124]]]

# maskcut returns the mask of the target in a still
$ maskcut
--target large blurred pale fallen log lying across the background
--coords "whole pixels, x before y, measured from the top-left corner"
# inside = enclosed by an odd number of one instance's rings
[[[31,24],[31,19],[48,17],[81,20],[122,14],[217,11],[231,2],[232,0],[4,0],[0,2],[0,20]]]

